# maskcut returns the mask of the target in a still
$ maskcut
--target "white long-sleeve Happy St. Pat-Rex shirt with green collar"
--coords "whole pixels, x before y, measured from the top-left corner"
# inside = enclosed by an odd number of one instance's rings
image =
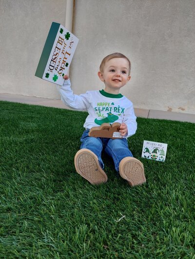
[[[68,107],[87,111],[89,115],[84,123],[84,128],[101,125],[104,122],[112,124],[113,122],[126,123],[128,138],[136,133],[137,122],[134,113],[133,104],[121,94],[109,94],[104,90],[87,91],[85,94],[76,95],[71,89],[70,80],[64,80],[63,86],[59,88],[61,100]]]

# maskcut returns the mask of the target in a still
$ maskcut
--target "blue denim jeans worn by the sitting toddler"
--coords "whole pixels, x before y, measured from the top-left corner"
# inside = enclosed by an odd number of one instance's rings
[[[115,163],[115,169],[119,172],[119,163],[126,156],[133,156],[128,148],[128,142],[126,138],[94,138],[89,137],[89,129],[86,129],[82,137],[80,138],[82,148],[87,148],[94,152],[98,156],[99,165],[104,168],[103,161],[101,159],[101,152],[104,151],[113,158]]]

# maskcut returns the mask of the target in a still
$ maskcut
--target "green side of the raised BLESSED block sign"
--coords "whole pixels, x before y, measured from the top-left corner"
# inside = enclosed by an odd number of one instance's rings
[[[52,47],[54,45],[54,41],[56,39],[56,35],[58,33],[59,26],[60,26],[60,23],[52,22],[52,25],[51,25],[51,28],[49,30],[49,34],[47,36],[42,54],[40,56],[39,64],[38,64],[38,67],[37,67],[37,70],[36,70],[36,73],[35,73],[35,75],[40,77],[40,78],[43,77],[43,73],[45,71],[45,67],[47,65],[49,55],[50,55]]]

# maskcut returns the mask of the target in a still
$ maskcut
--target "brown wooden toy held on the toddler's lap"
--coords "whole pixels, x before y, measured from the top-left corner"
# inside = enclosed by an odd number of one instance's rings
[[[119,129],[120,123],[118,122],[114,122],[113,124],[102,123],[101,126],[92,127],[89,131],[89,136],[95,138],[122,138]]]

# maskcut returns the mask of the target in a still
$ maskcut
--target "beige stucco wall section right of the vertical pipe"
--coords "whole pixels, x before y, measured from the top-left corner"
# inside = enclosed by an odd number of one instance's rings
[[[102,88],[102,58],[122,52],[132,62],[122,93],[135,107],[195,114],[194,10],[195,0],[76,0],[75,92]]]

